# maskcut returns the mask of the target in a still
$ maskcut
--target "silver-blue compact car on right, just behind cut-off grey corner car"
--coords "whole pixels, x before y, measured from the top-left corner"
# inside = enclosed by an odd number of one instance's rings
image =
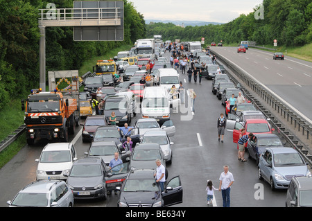
[[[259,159],[258,177],[270,183],[271,189],[287,189],[293,177],[311,176],[306,162],[293,148],[267,148]]]

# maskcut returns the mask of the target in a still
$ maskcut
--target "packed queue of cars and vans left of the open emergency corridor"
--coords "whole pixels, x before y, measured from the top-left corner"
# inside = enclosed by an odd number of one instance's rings
[[[166,62],[166,60],[159,59],[159,62]],[[89,77],[84,82],[85,91],[80,94],[82,116],[86,116],[82,138],[83,142],[90,143],[85,157],[77,158],[72,143],[48,143],[42,150],[40,158],[35,160],[38,163],[37,181],[21,190],[12,202],[9,201],[10,206],[73,206],[74,199],[105,200],[107,194],[112,191],[120,191],[122,200],[119,200],[117,206],[139,204],[158,207],[182,202],[182,185],[179,176],[172,182],[168,182],[163,192],[160,191],[154,177],[157,167],[155,160],[160,159],[162,165],[166,166],[166,163],[171,163],[173,158],[171,150],[173,142],[170,136],[174,136],[175,127],[170,120],[170,107],[173,102],[169,90],[173,84],[179,83],[177,71],[162,66],[163,69],[157,69],[159,73],[157,83],[150,85],[152,87],[146,87],[145,84],[132,80],[136,75],[141,79],[146,74],[146,64],[150,64],[150,69],[153,69],[154,60],[138,58],[137,63],[129,65],[122,57],[116,64],[124,70],[123,79],[126,79],[124,82],[116,82],[114,74],[107,73]],[[136,67],[137,64],[145,65]],[[132,69],[135,73],[130,73],[128,69]],[[91,107],[92,99],[97,98],[98,88],[103,92],[100,98],[104,102],[103,115],[94,114]],[[162,91],[163,94],[157,91]],[[142,109],[145,108],[141,119],[128,132],[121,130],[121,127],[126,124],[130,125],[132,116],[139,113],[137,108],[140,108],[140,101]],[[91,110],[83,110],[84,107],[90,107]],[[166,107],[166,111],[156,113],[158,107],[160,109]],[[116,125],[111,125],[112,112],[116,114],[116,121],[114,121]],[[132,141],[131,147],[125,142],[127,136]],[[114,159],[116,153],[123,163],[110,168],[110,161]],[[140,175],[136,177],[134,174]],[[166,177],[168,177],[167,169]],[[136,183],[134,178],[139,179],[140,182],[135,186],[135,191],[130,188]],[[50,188],[50,194],[49,191],[41,190],[44,186],[55,186],[55,188]],[[144,191],[144,194],[138,196],[137,191]],[[132,197],[128,197],[131,195],[130,192]],[[157,197],[152,201],[150,197],[143,196],[155,195],[155,193]],[[46,194],[51,195],[51,199],[44,201],[42,196]],[[142,202],[144,200],[146,202]]]

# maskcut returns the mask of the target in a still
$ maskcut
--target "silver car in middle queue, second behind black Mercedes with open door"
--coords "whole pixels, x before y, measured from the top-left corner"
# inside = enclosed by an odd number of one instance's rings
[[[166,131],[158,130],[145,132],[142,137],[141,143],[158,143],[160,148],[162,148],[162,152],[164,153],[164,160],[166,161],[166,163],[171,164],[171,145],[173,145],[173,142],[170,141]]]

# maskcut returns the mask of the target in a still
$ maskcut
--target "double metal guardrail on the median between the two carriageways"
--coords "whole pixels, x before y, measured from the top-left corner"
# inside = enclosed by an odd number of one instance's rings
[[[294,125],[294,128],[298,130],[298,132],[302,132],[302,135],[305,136],[308,141],[311,141],[310,133],[312,132],[312,129],[309,123],[306,123],[306,121],[302,120],[300,116],[295,114],[295,112],[293,112],[290,107],[287,107],[278,98],[275,98],[274,95],[266,91],[266,89],[264,89],[261,85],[255,82],[252,78],[250,78],[250,76],[244,73],[244,71],[240,67],[236,66],[236,64],[227,60],[215,51],[211,51],[211,53],[216,55],[218,60],[226,64],[227,67],[231,69],[236,75],[236,77],[232,76],[229,71],[226,71],[226,73],[231,77],[231,80],[236,82],[236,84],[241,82],[245,83],[245,85],[252,89],[252,91],[254,91],[257,96],[262,98],[263,101],[267,103],[267,105],[270,105],[270,107],[272,107],[272,109],[274,109],[277,114],[280,114],[285,121],[291,123],[291,125]],[[239,80],[241,80],[241,82],[239,82]],[[286,127],[282,126],[282,123],[268,109],[266,109],[266,107],[264,107],[264,105],[262,105],[261,102],[257,100],[257,98],[254,98],[250,94],[248,89],[245,89],[244,87],[242,87],[241,89],[244,92],[245,96],[247,96],[248,100],[251,100],[252,103],[256,105],[256,107],[260,109],[265,116],[271,119],[272,126],[275,127],[275,130],[277,130],[279,134],[281,134],[281,136],[286,139],[291,147],[295,148],[298,152],[300,152],[302,157],[304,157],[306,162],[309,163],[309,166],[312,168],[312,155],[309,153],[309,148],[306,147],[306,145],[302,141],[300,142],[300,139],[297,140],[297,137],[294,134],[291,134],[291,132],[287,131]]]

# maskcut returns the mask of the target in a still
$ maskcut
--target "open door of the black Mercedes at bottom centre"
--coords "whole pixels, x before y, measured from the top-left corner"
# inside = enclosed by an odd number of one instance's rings
[[[172,206],[183,202],[183,188],[180,176],[173,177],[168,182],[164,192],[162,192],[162,200],[164,200],[164,206]]]

